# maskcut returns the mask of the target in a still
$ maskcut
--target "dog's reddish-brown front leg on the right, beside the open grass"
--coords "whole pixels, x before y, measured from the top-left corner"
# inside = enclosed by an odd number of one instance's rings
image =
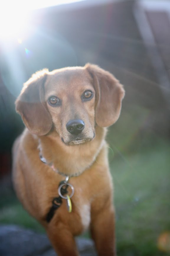
[[[110,205],[105,205],[98,213],[91,212],[91,236],[98,256],[116,256],[115,213]]]

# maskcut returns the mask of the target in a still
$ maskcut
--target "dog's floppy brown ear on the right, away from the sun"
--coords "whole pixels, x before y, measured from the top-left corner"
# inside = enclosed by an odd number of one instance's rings
[[[111,73],[97,65],[87,63],[84,68],[89,71],[94,80],[96,123],[100,127],[108,127],[119,118],[122,99],[125,95],[123,86]]]

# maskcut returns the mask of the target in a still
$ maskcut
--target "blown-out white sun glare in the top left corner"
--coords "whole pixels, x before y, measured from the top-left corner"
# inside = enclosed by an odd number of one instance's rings
[[[22,0],[6,0],[0,3],[0,40],[18,39],[29,35],[31,25],[31,11],[50,6],[70,4],[85,0],[50,0],[33,1],[25,3]]]

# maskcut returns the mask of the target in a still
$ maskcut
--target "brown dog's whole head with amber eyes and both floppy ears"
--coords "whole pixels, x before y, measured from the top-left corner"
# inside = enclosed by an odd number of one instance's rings
[[[66,145],[95,136],[95,126],[108,127],[120,115],[124,89],[115,77],[96,65],[35,73],[16,100],[16,110],[31,133],[55,129]]]

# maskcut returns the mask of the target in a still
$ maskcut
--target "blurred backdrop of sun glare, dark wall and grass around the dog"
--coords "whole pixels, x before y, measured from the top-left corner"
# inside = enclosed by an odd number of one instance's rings
[[[0,4],[0,223],[44,232],[17,201],[11,148],[24,126],[14,101],[32,73],[90,62],[126,95],[109,128],[118,255],[170,255],[170,2]]]

